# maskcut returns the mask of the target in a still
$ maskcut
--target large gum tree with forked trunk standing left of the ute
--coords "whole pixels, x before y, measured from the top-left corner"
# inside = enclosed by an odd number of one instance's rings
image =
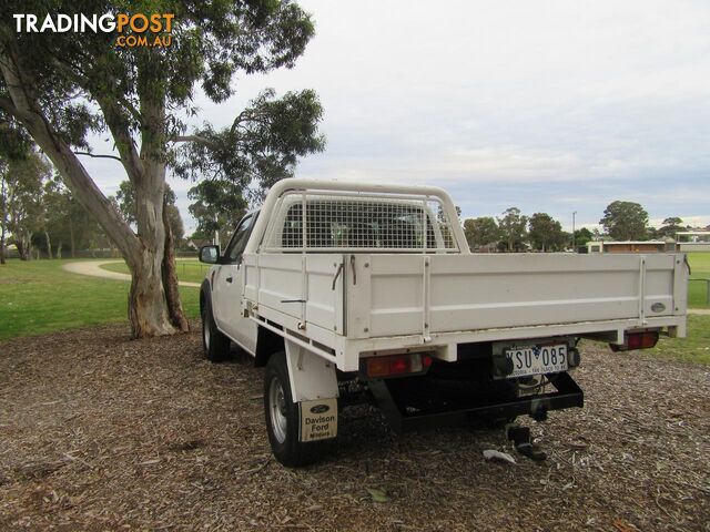
[[[121,48],[115,33],[91,31],[19,33],[12,17],[106,12],[173,13],[172,45]],[[30,134],[120,249],[132,276],[134,337],[187,328],[170,253],[168,168],[258,188],[292,175],[297,157],[323,146],[313,91],[277,99],[266,90],[246,109],[225,109],[236,116],[224,130],[189,126],[199,114],[197,91],[224,102],[234,93],[236,74],[293,66],[313,33],[310,16],[278,0],[29,0],[0,7],[0,123],[20,124]],[[148,33],[150,42],[155,37]],[[109,136],[114,151],[91,153],[92,133]],[[135,232],[81,156],[120,162],[135,194]]]

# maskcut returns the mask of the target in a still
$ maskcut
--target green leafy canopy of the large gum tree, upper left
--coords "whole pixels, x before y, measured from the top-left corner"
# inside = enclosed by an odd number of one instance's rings
[[[14,12],[106,11],[175,13],[173,44],[130,49],[115,47],[111,34],[37,35],[8,25]],[[204,124],[182,144],[186,119],[196,114],[191,105],[197,86],[222,102],[234,94],[232,79],[239,72],[265,73],[295,64],[314,34],[311,17],[296,3],[29,0],[6,2],[0,14],[2,48],[17,54],[51,125],[74,147],[88,150],[89,133],[110,130],[125,160],[132,141],[116,133],[126,131],[158,150],[142,155],[171,163],[178,175],[231,178],[242,186],[257,178],[262,187],[292,175],[298,156],[323,149],[317,134],[323,111],[315,92],[277,99],[272,89],[252,101],[231,127],[215,131]],[[149,32],[149,40],[154,37]],[[7,95],[0,80],[0,96]],[[0,111],[0,124],[11,123]]]

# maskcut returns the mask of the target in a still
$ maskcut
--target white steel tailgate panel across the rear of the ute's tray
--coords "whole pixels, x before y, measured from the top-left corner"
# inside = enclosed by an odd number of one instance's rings
[[[673,314],[673,254],[428,257],[427,276],[424,255],[368,256],[369,285],[349,286],[348,313],[351,296],[369,300],[371,336],[424,334],[423,323],[447,332]]]

